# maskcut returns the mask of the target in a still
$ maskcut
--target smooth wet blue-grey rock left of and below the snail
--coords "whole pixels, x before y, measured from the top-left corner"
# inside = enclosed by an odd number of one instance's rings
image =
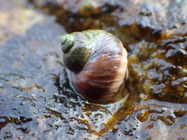
[[[26,18],[24,22],[16,18],[1,25],[15,23],[12,34],[3,36],[0,45],[0,138],[98,137],[124,100],[97,105],[75,94],[62,64],[59,36],[66,33],[64,28],[55,23],[54,17],[26,8],[23,3],[12,6],[12,11],[2,14],[14,18],[11,14],[21,10]],[[32,13],[28,18],[27,10]]]

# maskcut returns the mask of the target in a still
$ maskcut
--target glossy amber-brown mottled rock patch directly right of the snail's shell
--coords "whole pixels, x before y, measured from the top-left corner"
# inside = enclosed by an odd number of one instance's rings
[[[129,48],[130,89],[137,87],[144,99],[187,103],[186,37],[173,36],[160,45],[142,41]]]

